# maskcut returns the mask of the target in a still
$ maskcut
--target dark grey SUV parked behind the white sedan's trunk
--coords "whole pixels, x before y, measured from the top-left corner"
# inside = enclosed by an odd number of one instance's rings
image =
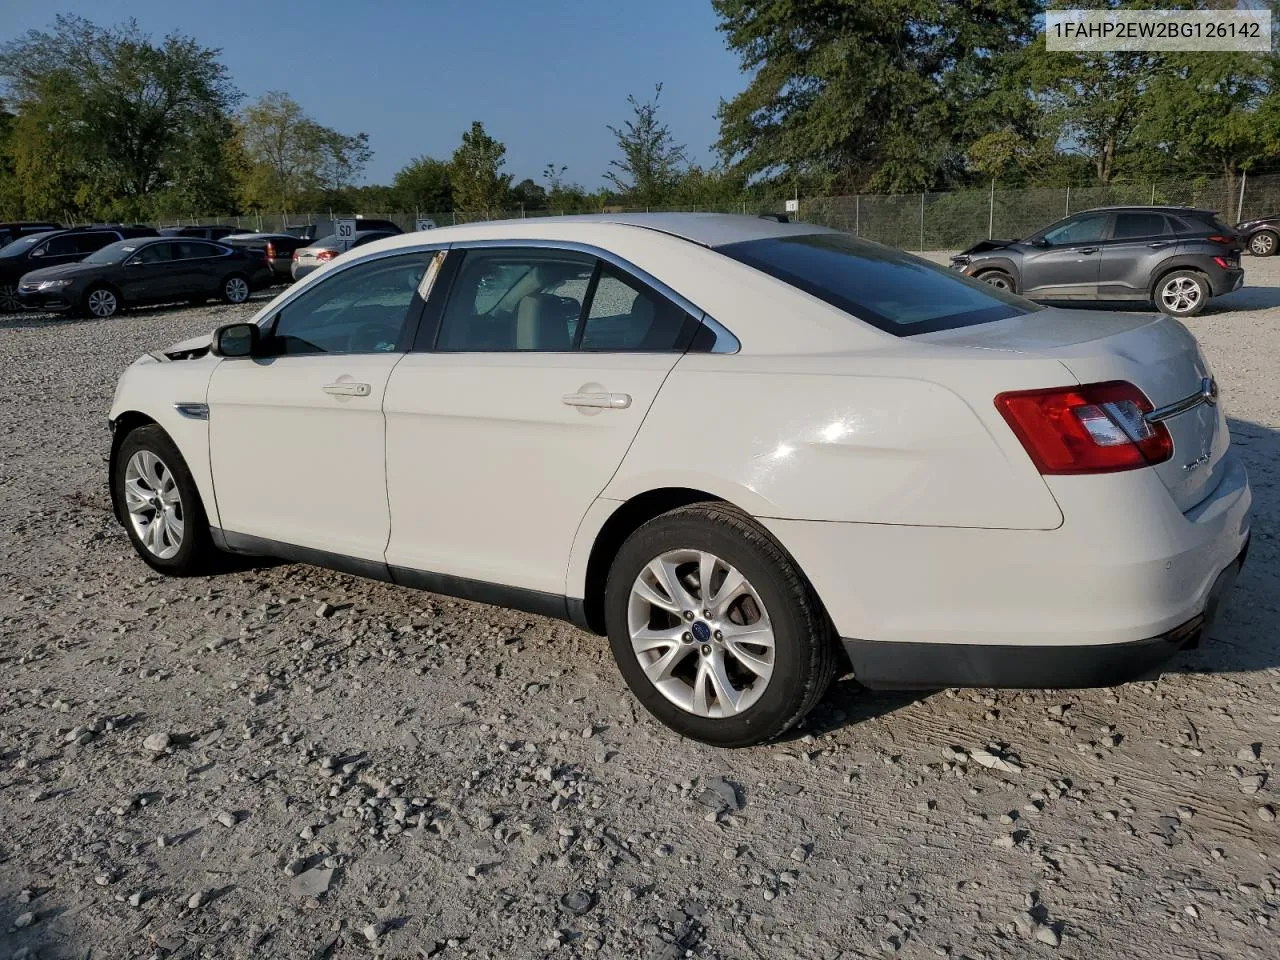
[[[1030,300],[1144,301],[1171,316],[1244,283],[1235,230],[1189,207],[1085,210],[1025,241],[975,243],[951,266]]]

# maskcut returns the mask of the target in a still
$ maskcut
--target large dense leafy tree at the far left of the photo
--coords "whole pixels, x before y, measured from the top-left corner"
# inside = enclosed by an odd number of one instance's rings
[[[104,29],[64,15],[0,47],[19,118],[14,173],[32,206],[138,216],[170,191],[218,196],[225,169],[210,142],[241,96],[219,52],[178,33],[152,44],[134,20]]]

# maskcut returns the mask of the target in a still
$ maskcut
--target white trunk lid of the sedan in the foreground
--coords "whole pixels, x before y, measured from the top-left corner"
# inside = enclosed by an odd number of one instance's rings
[[[1082,384],[1128,380],[1157,410],[1199,394],[1212,376],[1190,332],[1172,317],[1151,314],[1048,308],[919,339],[1057,360]],[[1174,456],[1152,470],[1185,513],[1221,480],[1230,445],[1226,415],[1215,398],[1164,424]]]

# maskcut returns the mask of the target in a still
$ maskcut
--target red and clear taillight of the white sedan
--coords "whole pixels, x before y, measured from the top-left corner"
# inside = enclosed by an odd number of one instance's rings
[[[1041,474],[1110,474],[1174,456],[1165,425],[1146,419],[1151,401],[1124,380],[1001,393],[996,410]]]

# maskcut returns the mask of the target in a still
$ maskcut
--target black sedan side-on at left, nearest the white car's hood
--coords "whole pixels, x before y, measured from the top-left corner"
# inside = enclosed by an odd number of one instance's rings
[[[253,251],[160,237],[119,241],[78,264],[33,270],[22,278],[18,298],[32,308],[106,319],[140,303],[210,297],[243,303],[270,282],[266,261]]]

